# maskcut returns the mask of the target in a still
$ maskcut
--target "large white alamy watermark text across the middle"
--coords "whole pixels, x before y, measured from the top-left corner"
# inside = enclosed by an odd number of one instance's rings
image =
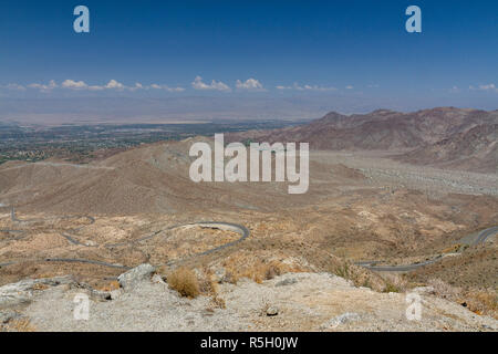
[[[189,170],[190,179],[195,183],[272,181],[274,175],[274,181],[283,183],[287,179],[288,183],[294,184],[288,186],[289,194],[299,195],[308,191],[310,183],[308,143],[300,143],[299,150],[295,148],[295,143],[286,145],[283,143],[271,145],[269,143],[250,143],[248,148],[242,143],[230,143],[225,146],[224,134],[215,134],[214,165],[212,150],[208,143],[193,144],[189,155],[198,156],[190,165]],[[225,157],[230,158],[227,164],[225,164]],[[299,170],[297,168],[298,160]]]

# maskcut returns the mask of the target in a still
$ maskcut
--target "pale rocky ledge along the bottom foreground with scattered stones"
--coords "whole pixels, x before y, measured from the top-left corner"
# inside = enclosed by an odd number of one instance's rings
[[[71,277],[24,280],[0,288],[7,331],[498,331],[498,321],[439,299],[355,288],[330,273],[286,273],[256,283],[219,281],[217,295],[183,298],[149,264],[97,291]],[[419,320],[408,320],[413,299]],[[89,299],[85,320],[82,299]],[[83,311],[82,311],[83,309]],[[413,308],[412,308],[413,309]],[[412,312],[414,314],[416,312]],[[80,317],[76,320],[75,317]]]

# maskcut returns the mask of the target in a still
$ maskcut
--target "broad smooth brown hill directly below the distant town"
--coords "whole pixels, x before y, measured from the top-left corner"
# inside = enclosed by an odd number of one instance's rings
[[[310,190],[289,199],[287,183],[196,184],[189,178],[196,158],[188,155],[194,142],[146,145],[85,165],[6,163],[0,166],[0,204],[55,212],[174,214],[217,208],[273,210],[322,194]],[[338,169],[345,177],[353,173],[347,167]]]

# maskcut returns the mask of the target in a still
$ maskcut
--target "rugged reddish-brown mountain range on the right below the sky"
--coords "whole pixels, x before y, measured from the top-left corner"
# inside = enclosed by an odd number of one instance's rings
[[[313,149],[403,152],[412,164],[498,171],[498,111],[439,107],[413,113],[329,113],[297,127],[231,134],[227,140],[308,142]]]

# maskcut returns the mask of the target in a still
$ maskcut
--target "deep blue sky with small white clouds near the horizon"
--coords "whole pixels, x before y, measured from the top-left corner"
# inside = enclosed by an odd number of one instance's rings
[[[73,31],[79,4],[90,33]],[[422,33],[405,31],[411,4]],[[0,97],[341,94],[498,108],[498,2],[2,1],[0,86]]]

